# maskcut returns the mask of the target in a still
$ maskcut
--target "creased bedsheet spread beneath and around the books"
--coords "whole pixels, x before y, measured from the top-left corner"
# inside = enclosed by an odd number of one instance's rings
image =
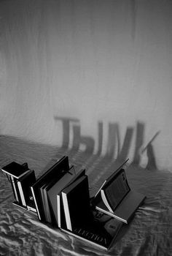
[[[121,162],[96,155],[30,143],[1,136],[0,166],[28,162],[39,177],[63,155],[77,170],[85,167],[93,196],[103,180]],[[129,225],[123,227],[109,252],[85,244],[77,238],[38,221],[36,215],[12,205],[12,188],[0,173],[0,255],[172,255],[172,173],[125,167],[130,187],[146,195]]]

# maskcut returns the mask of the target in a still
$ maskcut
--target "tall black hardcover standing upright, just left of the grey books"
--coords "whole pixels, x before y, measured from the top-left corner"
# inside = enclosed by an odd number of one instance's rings
[[[40,188],[47,184],[50,181],[58,181],[63,175],[69,170],[69,158],[62,157],[58,160],[55,165],[50,167],[37,181],[35,184],[31,186],[31,192],[34,197],[34,202],[36,205],[36,211],[39,217],[39,220],[46,222],[45,214],[44,214],[44,207],[42,203],[42,195]]]

